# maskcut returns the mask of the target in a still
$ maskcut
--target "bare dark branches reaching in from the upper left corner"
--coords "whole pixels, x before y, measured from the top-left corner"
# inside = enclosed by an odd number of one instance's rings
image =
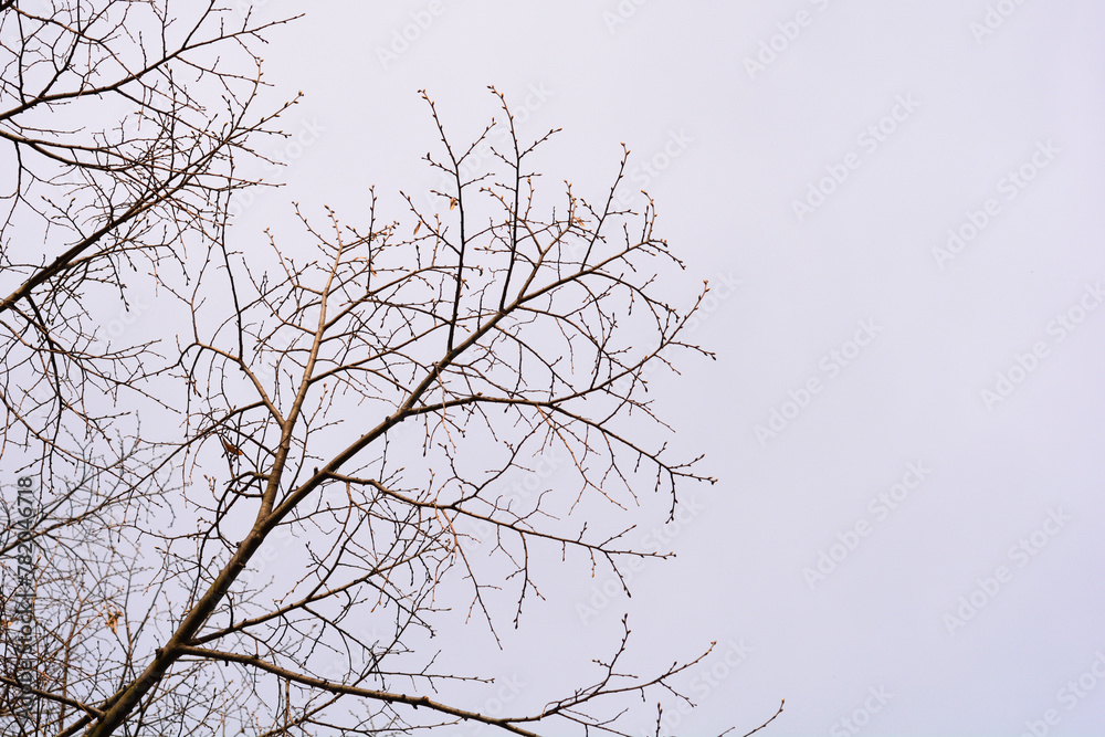
[[[66,415],[155,372],[148,346],[105,349],[90,306],[138,270],[186,277],[189,245],[221,229],[235,172],[273,115],[253,46],[272,23],[231,28],[217,2],[25,0],[0,7],[0,387],[4,449],[63,451]],[[278,110],[277,110],[278,113]],[[11,376],[11,375],[9,375]],[[50,452],[46,452],[49,449]]]

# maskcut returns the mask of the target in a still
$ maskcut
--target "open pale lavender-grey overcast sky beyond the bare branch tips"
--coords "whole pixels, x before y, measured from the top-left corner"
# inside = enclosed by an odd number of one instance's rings
[[[290,200],[356,215],[369,185],[404,217],[398,191],[436,185],[418,91],[466,138],[493,84],[524,137],[564,128],[551,185],[601,192],[624,141],[624,197],[687,263],[672,299],[713,288],[694,339],[718,360],[652,382],[718,483],[641,530],[678,557],[632,599],[580,576],[534,607],[518,704],[628,611],[635,664],[718,643],[665,734],[743,734],[783,697],[762,734],[1099,734],[1105,6],[307,8],[264,51],[273,94],[305,93],[299,143],[269,144],[288,186],[241,238]]]

